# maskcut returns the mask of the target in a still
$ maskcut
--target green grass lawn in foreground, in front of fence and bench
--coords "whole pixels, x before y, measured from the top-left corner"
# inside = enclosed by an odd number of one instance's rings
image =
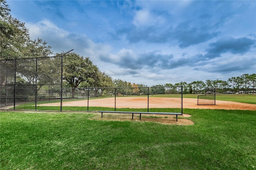
[[[256,111],[184,109],[194,125],[0,113],[0,169],[256,169]]]

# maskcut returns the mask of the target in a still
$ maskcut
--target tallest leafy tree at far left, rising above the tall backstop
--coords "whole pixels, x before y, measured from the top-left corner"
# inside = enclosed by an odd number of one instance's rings
[[[31,57],[48,57],[52,54],[51,47],[42,39],[31,40],[25,23],[10,15],[10,9],[5,0],[0,0],[0,56],[4,59],[19,59]],[[14,62],[2,60],[0,66],[0,85],[4,84],[6,68],[14,68]],[[38,61],[38,81],[47,82],[46,79],[56,77],[48,72],[48,68],[54,68],[52,62]],[[36,60],[27,59],[26,62],[17,64],[17,72],[30,84],[35,84]],[[40,69],[42,68],[42,69]],[[52,69],[50,69],[52,70]],[[55,73],[55,72],[54,72]],[[46,79],[45,79],[46,78]],[[49,82],[47,82],[49,83]],[[38,90],[41,88],[39,86]]]

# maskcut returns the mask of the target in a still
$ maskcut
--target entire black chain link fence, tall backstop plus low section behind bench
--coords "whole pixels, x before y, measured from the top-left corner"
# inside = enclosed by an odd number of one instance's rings
[[[63,55],[1,59],[0,108],[150,112],[170,108],[171,112],[182,113],[182,86],[63,88],[62,63]]]

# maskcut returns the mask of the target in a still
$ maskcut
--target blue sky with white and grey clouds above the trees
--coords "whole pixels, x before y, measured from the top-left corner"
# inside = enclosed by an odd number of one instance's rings
[[[30,37],[148,86],[256,73],[256,1],[8,0]]]

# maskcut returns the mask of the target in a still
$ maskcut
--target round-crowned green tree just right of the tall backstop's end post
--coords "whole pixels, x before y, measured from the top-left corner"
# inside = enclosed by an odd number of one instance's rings
[[[92,64],[88,57],[83,58],[76,53],[68,53],[63,59],[63,79],[72,88],[72,98],[75,97],[75,88],[80,83],[87,82],[89,85],[98,80],[98,67]]]

